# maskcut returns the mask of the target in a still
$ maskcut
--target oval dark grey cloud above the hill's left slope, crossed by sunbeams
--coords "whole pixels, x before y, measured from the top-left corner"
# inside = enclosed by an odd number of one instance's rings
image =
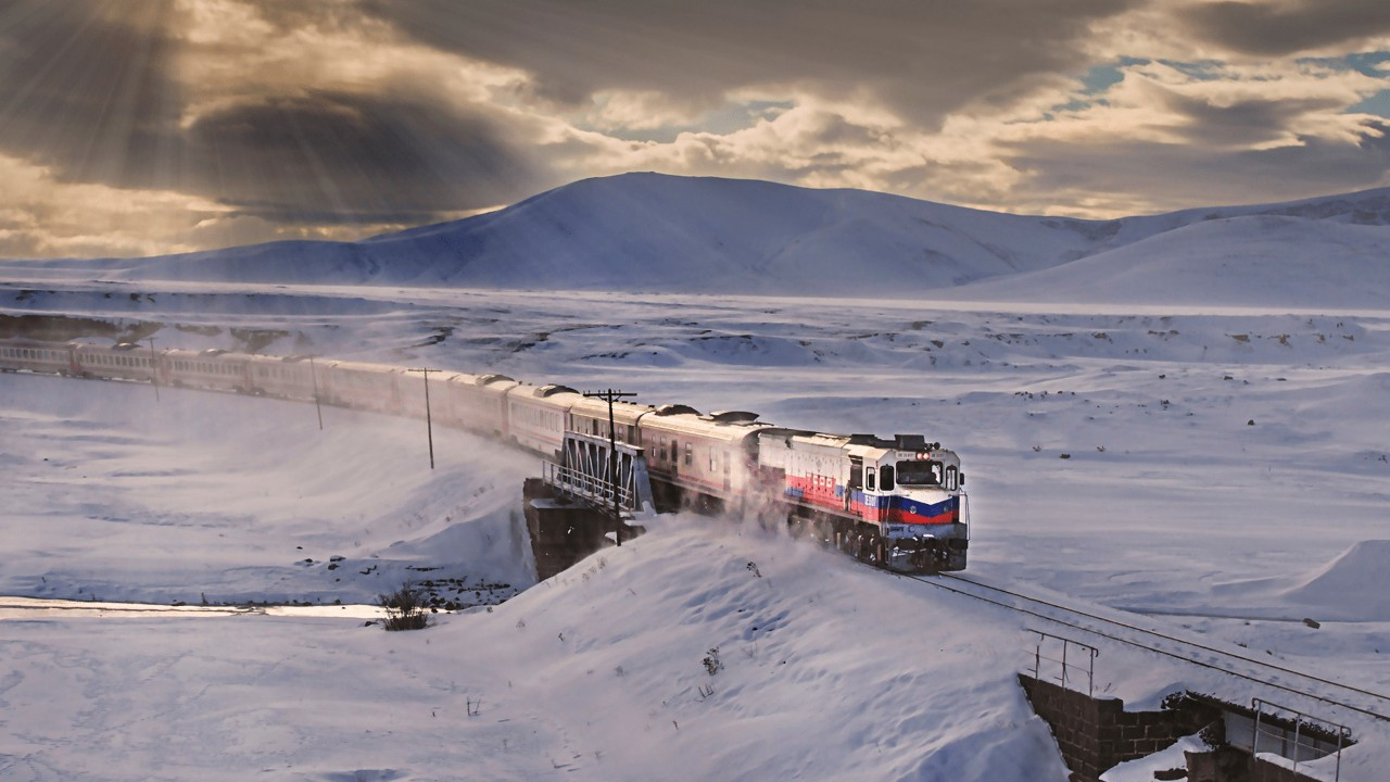
[[[542,181],[485,118],[385,95],[236,104],[199,118],[188,149],[199,189],[292,223],[427,221],[530,195]]]

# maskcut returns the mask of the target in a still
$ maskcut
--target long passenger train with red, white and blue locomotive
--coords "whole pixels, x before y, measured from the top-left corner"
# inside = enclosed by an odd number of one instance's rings
[[[656,509],[785,520],[877,566],[966,568],[970,522],[958,455],[922,434],[785,429],[746,410],[613,404],[567,385],[321,356],[131,342],[0,340],[0,370],[154,383],[425,417],[562,458],[567,431],[641,448]],[[428,404],[428,412],[427,412]]]

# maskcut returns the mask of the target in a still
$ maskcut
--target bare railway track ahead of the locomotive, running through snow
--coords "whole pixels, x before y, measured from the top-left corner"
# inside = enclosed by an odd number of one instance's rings
[[[1062,605],[1061,603],[1024,594],[1016,589],[990,584],[956,573],[940,573],[934,576],[897,575],[935,589],[1008,608],[1009,611],[1099,636],[1115,643],[1162,654],[1190,665],[1218,671],[1265,687],[1293,693],[1390,722],[1390,694],[1240,654],[1230,648],[1220,648],[1198,640],[1179,637],[1170,632],[1144,628],[1116,616],[1104,616],[1094,611]]]

